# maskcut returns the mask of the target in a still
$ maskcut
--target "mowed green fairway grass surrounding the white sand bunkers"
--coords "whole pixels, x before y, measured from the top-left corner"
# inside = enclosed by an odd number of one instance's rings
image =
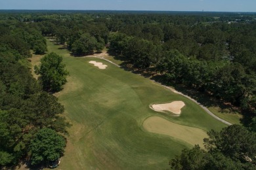
[[[49,52],[64,57],[70,72],[64,90],[55,94],[73,125],[58,169],[167,169],[171,158],[192,145],[186,137],[181,141],[146,131],[142,124],[150,116],[203,131],[225,127],[194,102],[147,78],[102,59],[72,57],[68,50],[47,43]],[[101,70],[89,61],[108,67]],[[169,101],[184,101],[181,116],[149,108],[150,103]]]

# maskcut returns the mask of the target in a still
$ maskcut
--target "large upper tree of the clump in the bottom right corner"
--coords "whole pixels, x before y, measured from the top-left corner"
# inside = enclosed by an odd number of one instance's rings
[[[232,125],[224,127],[221,132],[207,132],[209,138],[203,139],[205,148],[210,152],[221,152],[235,161],[246,161],[250,158],[256,161],[256,134],[245,127]]]

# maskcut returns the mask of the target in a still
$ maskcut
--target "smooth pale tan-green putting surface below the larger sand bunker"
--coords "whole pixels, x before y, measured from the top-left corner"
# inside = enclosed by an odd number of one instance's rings
[[[194,144],[199,144],[203,147],[203,138],[208,137],[207,133],[202,129],[175,124],[158,116],[147,118],[142,126],[146,131],[169,135],[193,146]]]

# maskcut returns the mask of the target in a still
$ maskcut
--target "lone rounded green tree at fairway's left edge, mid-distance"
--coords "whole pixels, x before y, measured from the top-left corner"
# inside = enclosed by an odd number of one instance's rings
[[[51,52],[41,59],[41,65],[35,66],[35,73],[43,84],[43,89],[51,92],[58,92],[62,85],[67,82],[68,71],[62,63],[62,56]]]

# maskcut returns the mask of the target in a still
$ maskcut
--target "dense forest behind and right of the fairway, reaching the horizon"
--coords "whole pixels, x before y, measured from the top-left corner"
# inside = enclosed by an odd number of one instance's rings
[[[43,35],[66,44],[74,56],[109,47],[133,67],[153,69],[162,81],[184,84],[241,107],[246,125],[255,124],[253,14],[56,13],[30,20]]]

